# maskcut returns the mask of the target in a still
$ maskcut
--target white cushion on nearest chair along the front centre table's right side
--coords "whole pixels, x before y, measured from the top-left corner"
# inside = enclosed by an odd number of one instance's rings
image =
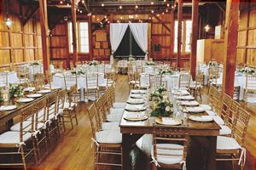
[[[236,139],[218,136],[217,137],[217,150],[238,150],[241,149],[240,144],[237,143]]]

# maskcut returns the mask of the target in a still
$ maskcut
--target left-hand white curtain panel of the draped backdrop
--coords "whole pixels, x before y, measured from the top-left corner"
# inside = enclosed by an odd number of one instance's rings
[[[112,23],[110,24],[110,44],[112,53],[110,55],[110,65],[113,65],[113,53],[119,47],[120,42],[125,36],[125,31],[128,27],[127,23]]]

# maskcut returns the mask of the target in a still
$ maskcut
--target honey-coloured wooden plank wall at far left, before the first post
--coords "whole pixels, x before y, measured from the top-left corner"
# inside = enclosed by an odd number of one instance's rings
[[[7,19],[5,12],[0,15],[0,68],[9,69],[10,63],[20,64],[42,59],[40,22],[28,20],[25,26],[20,20],[19,3],[9,2],[9,18],[13,24],[8,28],[3,22]],[[10,5],[11,4],[11,5]],[[24,10],[25,8],[23,8]],[[26,9],[25,9],[26,10]]]

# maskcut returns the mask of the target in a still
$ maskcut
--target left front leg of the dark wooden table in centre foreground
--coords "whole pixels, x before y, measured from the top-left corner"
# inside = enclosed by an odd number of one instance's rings
[[[131,141],[130,141],[131,134],[129,133],[123,133],[123,170],[131,170],[131,157],[130,157],[130,151],[131,151]]]

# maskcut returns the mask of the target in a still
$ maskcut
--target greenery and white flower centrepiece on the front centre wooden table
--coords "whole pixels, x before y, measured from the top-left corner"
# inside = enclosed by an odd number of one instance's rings
[[[151,116],[171,116],[172,103],[168,99],[167,95],[164,95],[166,88],[160,86],[153,93],[150,94],[150,100],[153,103],[153,111],[150,113]]]

